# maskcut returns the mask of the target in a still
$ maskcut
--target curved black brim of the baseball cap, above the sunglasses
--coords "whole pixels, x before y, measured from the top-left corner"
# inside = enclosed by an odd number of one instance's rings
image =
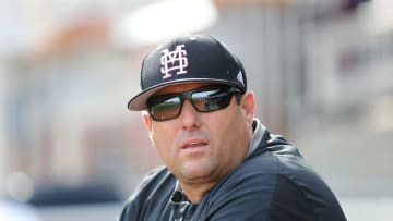
[[[223,79],[213,79],[213,78],[183,78],[171,82],[166,82],[164,84],[155,85],[154,87],[146,88],[132,97],[128,102],[128,109],[132,111],[141,111],[147,109],[147,99],[163,89],[164,87],[168,87],[171,85],[184,84],[184,83],[217,83],[224,85],[230,85],[235,87],[239,87],[239,85],[234,84],[234,82],[223,81]],[[239,87],[240,88],[240,87]],[[241,88],[240,88],[241,89]]]

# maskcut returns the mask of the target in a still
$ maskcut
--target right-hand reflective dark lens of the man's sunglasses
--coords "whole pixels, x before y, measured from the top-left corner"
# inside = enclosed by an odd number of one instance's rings
[[[227,90],[204,90],[192,94],[192,103],[200,112],[211,112],[228,107],[230,98],[231,94]]]

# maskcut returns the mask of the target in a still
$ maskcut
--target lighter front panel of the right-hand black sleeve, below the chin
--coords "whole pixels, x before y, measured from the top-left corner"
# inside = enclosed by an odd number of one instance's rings
[[[245,161],[209,193],[206,218],[266,220],[278,168],[278,159],[267,154]]]

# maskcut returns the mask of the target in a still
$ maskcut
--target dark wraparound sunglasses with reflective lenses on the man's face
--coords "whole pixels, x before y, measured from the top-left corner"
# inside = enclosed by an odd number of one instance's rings
[[[235,87],[210,85],[184,93],[158,95],[147,100],[147,111],[154,121],[176,119],[187,99],[198,112],[212,112],[228,107],[234,94],[242,93]]]

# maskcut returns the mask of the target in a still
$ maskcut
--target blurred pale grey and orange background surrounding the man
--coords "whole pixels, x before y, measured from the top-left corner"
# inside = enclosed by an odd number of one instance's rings
[[[187,33],[238,53],[257,116],[300,148],[348,220],[392,220],[392,10],[390,0],[0,0],[0,220],[116,220],[160,164],[126,108],[141,61]]]

